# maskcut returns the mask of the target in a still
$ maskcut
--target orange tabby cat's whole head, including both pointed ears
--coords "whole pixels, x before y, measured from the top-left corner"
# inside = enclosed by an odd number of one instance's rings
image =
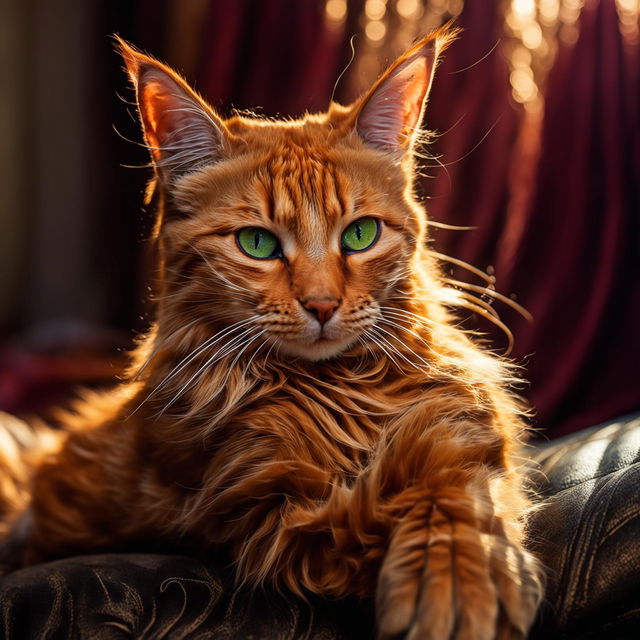
[[[286,121],[225,120],[121,42],[163,202],[160,323],[309,360],[368,340],[425,241],[413,147],[450,39],[418,42],[352,105]]]

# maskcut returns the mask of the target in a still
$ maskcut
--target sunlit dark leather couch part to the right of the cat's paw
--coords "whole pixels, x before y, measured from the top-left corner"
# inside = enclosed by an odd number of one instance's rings
[[[533,638],[640,637],[640,416],[540,447],[531,533],[548,584]]]

